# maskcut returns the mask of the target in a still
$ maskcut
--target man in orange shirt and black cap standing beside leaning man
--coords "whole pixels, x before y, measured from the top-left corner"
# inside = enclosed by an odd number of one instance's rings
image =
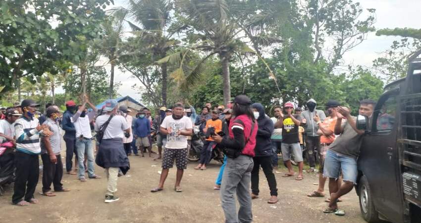
[[[309,197],[324,197],[324,184],[326,182],[326,177],[323,177],[323,166],[324,166],[324,157],[326,156],[327,149],[331,143],[335,140],[335,124],[336,120],[338,119],[336,114],[336,108],[340,106],[338,101],[329,100],[326,103],[326,111],[328,113],[328,117],[326,117],[323,122],[320,121],[320,117],[316,114],[314,120],[316,121],[319,129],[317,130],[317,134],[320,135],[320,166],[318,172],[318,188],[317,190],[313,191],[312,193],[308,194]],[[338,180],[338,184],[340,187],[340,180]]]

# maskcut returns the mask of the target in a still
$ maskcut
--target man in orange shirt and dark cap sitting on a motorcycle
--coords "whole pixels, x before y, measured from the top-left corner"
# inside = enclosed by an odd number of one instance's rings
[[[206,136],[208,137],[203,144],[203,148],[200,153],[199,165],[195,167],[195,169],[206,169],[206,165],[211,161],[213,146],[216,144],[212,139],[212,135],[222,131],[222,121],[218,118],[219,111],[213,110],[211,113],[212,118],[206,121],[206,127],[203,129],[203,132],[206,133]]]

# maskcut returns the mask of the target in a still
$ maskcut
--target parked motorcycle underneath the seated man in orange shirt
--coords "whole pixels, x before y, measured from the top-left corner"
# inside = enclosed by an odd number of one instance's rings
[[[193,128],[192,139],[190,141],[190,145],[188,146],[188,155],[187,159],[189,161],[199,161],[200,160],[200,153],[203,149],[203,145],[205,144],[206,136],[200,133],[199,126],[195,126]],[[222,155],[221,149],[216,145],[211,154],[211,160],[218,161],[220,163],[224,162],[224,157]]]

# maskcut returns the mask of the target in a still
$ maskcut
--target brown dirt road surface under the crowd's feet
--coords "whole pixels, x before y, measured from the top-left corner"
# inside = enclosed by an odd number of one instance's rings
[[[106,179],[89,179],[80,182],[75,175],[63,176],[63,184],[71,192],[44,197],[38,193],[39,204],[27,207],[11,205],[13,188],[8,186],[0,197],[0,222],[144,222],[144,223],[221,223],[224,221],[219,192],[213,184],[220,164],[212,163],[207,170],[195,170],[190,163],[182,180],[182,193],[173,190],[175,169],[171,169],[165,188],[158,193],[149,192],[157,186],[160,162],[150,158],[130,156],[131,170],[118,178],[117,195],[120,200],[104,203]],[[63,159],[64,163],[64,159]],[[346,211],[343,217],[323,214],[324,198],[310,198],[306,194],[316,189],[316,174],[306,173],[304,180],[281,177],[285,169],[276,171],[279,203],[269,205],[267,181],[261,171],[260,198],[253,200],[254,221],[257,223],[361,223],[358,197],[351,191],[343,197],[339,207]],[[104,170],[96,167],[96,173],[105,177]],[[326,186],[327,189],[327,186]]]

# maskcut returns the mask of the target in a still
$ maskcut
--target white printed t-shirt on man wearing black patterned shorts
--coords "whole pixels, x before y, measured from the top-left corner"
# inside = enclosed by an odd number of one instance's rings
[[[167,149],[186,149],[187,148],[187,136],[177,135],[178,130],[193,129],[192,121],[189,117],[183,116],[180,119],[172,118],[172,115],[168,115],[164,118],[161,124],[162,128],[172,129],[171,134],[166,136],[165,148]]]

